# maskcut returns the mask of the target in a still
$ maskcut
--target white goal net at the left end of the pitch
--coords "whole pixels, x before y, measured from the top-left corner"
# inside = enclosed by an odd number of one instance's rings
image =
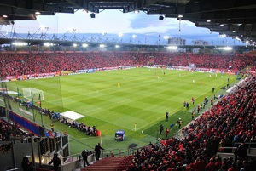
[[[44,91],[37,88],[22,88],[23,97],[29,100],[44,100]]]

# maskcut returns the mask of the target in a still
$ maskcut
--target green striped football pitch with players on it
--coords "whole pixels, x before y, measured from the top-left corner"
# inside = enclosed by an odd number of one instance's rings
[[[165,135],[159,134],[160,124],[170,128],[170,124],[175,124],[180,117],[182,126],[185,126],[191,121],[191,111],[203,103],[205,97],[210,103],[214,94],[225,93],[220,87],[226,86],[228,79],[231,85],[236,83],[235,75],[136,68],[13,81],[7,83],[7,88],[13,91],[19,89],[21,94],[22,88],[43,90],[42,108],[55,112],[77,112],[84,115],[79,118],[79,123],[95,125],[101,130],[102,137],[99,138],[55,122],[55,130],[70,134],[70,149],[74,154],[84,148],[93,150],[97,142],[101,142],[106,149],[116,149],[127,148],[131,144],[143,146],[149,141],[155,142],[156,138],[165,138]],[[195,98],[195,105],[192,105],[192,97]],[[183,107],[184,101],[189,102],[189,110]],[[170,113],[168,121],[166,111]],[[196,112],[195,117],[199,114]],[[32,119],[22,112],[20,115]],[[35,118],[38,125],[44,124],[49,128],[49,117],[41,117],[36,112]],[[125,130],[124,141],[114,140],[118,129]],[[177,128],[172,128],[169,136],[176,132]]]

